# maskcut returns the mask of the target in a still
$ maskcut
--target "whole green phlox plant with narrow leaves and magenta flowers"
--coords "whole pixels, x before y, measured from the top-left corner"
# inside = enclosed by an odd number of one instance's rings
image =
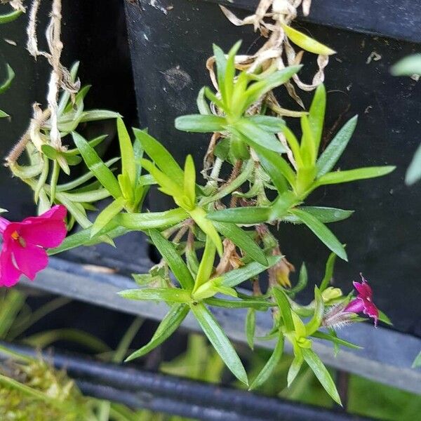
[[[74,142],[74,147],[55,149],[49,142],[51,126],[46,120],[39,128],[37,142],[27,145],[29,165],[10,164],[13,174],[34,191],[39,213],[47,212],[39,217],[41,222],[32,218],[35,221],[32,225],[44,223],[48,241],[44,238],[32,241],[30,237],[34,232],[27,220],[17,223],[1,218],[0,227],[4,226],[1,283],[5,286],[15,283],[11,282],[7,268],[13,267],[15,274],[28,275],[22,265],[27,262],[25,253],[30,255],[29,245],[35,247],[39,255],[41,247],[47,248],[48,255],[55,255],[76,246],[112,244],[114,238],[126,232],[144,232],[159,250],[161,262],[148,274],[135,274],[138,287],[123,290],[119,295],[128,300],[165,302],[168,313],[149,343],[131,354],[128,360],[161,345],[191,313],[227,368],[250,389],[259,387],[269,378],[287,341],[294,354],[288,385],[295,380],[302,364],[307,363],[328,394],[340,403],[328,370],[314,352],[314,338],[332,342],[337,348],[358,348],[338,338],[335,329],[364,320],[359,313],[370,316],[375,323],[377,319],[387,322],[387,317],[375,307],[373,293],[365,279],[354,283],[356,297],[352,293],[344,295],[339,288],[330,286],[336,258],[347,260],[347,253],[343,239],[337,239],[328,224],[349,218],[352,211],[306,206],[305,202],[307,196],[321,186],[387,175],[394,167],[335,171],[352,137],[357,117],[345,123],[326,149],[321,150],[326,110],[323,84],[316,89],[309,111],[300,116],[298,135],[286,121],[265,107],[265,98],[272,89],[297,74],[300,66],[281,70],[259,67],[253,72],[239,70],[235,64],[239,48],[240,43],[237,43],[225,55],[214,46],[219,92],[201,89],[197,100],[199,114],[180,116],[175,121],[175,126],[182,131],[218,134],[213,149],[215,161],[204,183],[196,178],[192,156],[187,156],[180,166],[146,129],[133,129],[132,142],[118,114],[84,110],[86,88],[79,91],[73,102],[63,93],[58,124],[62,138],[72,138],[69,142]],[[72,75],[76,77],[76,67]],[[105,118],[116,118],[121,152],[118,159],[107,162],[95,151],[104,137],[86,140],[78,130],[81,122]],[[286,142],[279,140],[279,133]],[[88,171],[60,184],[60,171],[69,173],[69,167],[82,160]],[[113,168],[118,160],[121,166]],[[227,180],[220,180],[222,168],[232,171]],[[143,203],[152,185],[173,199],[173,208],[163,212],[144,209]],[[86,211],[95,209],[94,203],[106,198],[111,202],[91,222]],[[58,206],[52,209],[60,210],[60,218],[54,217],[57,215],[54,211],[48,211],[53,205]],[[59,224],[64,220],[67,229],[75,223],[81,229],[63,241]],[[272,233],[281,223],[305,225],[330,250],[326,273],[314,286],[314,298],[307,305],[295,300],[307,285],[305,263],[302,263],[298,283],[291,285],[289,273],[293,267],[282,255]],[[13,229],[8,228],[12,225]],[[44,266],[43,260],[43,265],[32,269]],[[262,292],[259,276],[265,272],[269,287]],[[253,291],[241,288],[250,280]],[[259,339],[273,340],[274,351],[252,381],[249,382],[225,330],[213,316],[212,307],[225,307],[231,312],[247,310],[245,331],[252,349],[256,314],[272,314],[272,329]]]

